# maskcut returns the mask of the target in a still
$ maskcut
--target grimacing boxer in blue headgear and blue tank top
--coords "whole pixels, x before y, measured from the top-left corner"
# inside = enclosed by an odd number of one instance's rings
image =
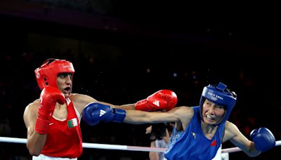
[[[152,100],[157,104],[157,100]],[[126,110],[124,122],[129,124],[155,124],[175,122],[166,159],[213,159],[223,142],[230,140],[248,156],[258,156],[275,146],[275,137],[268,128],[256,128],[251,140],[235,124],[228,121],[235,106],[236,94],[225,84],[204,87],[200,105],[175,107],[167,112]],[[98,107],[102,109],[102,107]],[[112,109],[107,109],[113,112]],[[110,113],[109,113],[110,114]],[[220,154],[220,153],[218,153]]]

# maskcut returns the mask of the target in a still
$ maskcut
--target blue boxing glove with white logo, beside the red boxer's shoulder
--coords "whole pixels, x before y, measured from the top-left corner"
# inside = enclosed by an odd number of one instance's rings
[[[125,110],[112,108],[97,102],[89,103],[82,112],[83,120],[86,124],[91,126],[98,124],[100,121],[114,121],[121,123],[124,121],[125,116]]]

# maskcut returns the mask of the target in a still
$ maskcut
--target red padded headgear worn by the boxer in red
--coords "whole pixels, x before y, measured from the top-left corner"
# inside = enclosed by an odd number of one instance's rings
[[[57,77],[60,73],[74,74],[72,62],[67,60],[48,59],[41,67],[34,70],[39,88],[42,90],[46,86],[58,88]]]

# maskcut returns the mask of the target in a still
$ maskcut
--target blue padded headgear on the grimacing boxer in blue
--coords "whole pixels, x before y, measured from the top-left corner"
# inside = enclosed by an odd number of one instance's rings
[[[203,107],[205,98],[207,98],[211,102],[214,102],[218,105],[223,105],[226,107],[226,112],[225,112],[223,118],[221,119],[221,121],[218,121],[217,124],[226,122],[226,120],[228,120],[228,118],[230,116],[231,110],[235,106],[236,94],[234,92],[228,90],[227,86],[221,82],[216,86],[213,86],[211,84],[209,84],[209,86],[205,86],[203,89],[201,98],[200,98],[201,119],[203,119],[202,107]]]

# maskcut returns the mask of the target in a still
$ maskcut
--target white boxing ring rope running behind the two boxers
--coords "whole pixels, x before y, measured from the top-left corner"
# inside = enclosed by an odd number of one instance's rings
[[[26,143],[25,138],[8,138],[0,137],[0,142],[14,142],[14,143]],[[281,145],[281,140],[276,141],[275,146]],[[84,148],[96,148],[96,149],[117,149],[117,150],[131,150],[131,151],[143,151],[143,152],[165,152],[166,148],[156,148],[156,147],[139,147],[139,146],[128,146],[128,145],[106,145],[98,143],[87,143],[82,144]],[[221,153],[232,153],[240,152],[241,149],[238,147],[221,149]]]

